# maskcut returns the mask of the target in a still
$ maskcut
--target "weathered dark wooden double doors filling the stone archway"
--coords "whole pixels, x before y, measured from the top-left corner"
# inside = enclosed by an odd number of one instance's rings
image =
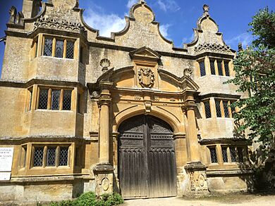
[[[123,198],[176,196],[176,160],[169,124],[138,115],[122,122],[118,132],[118,178]]]

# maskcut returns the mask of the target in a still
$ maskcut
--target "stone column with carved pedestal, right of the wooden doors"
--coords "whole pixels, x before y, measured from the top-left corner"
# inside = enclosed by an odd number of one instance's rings
[[[202,196],[209,193],[205,165],[200,161],[200,145],[197,139],[197,126],[195,118],[195,100],[193,94],[188,94],[185,101],[185,112],[188,118],[187,140],[190,150],[190,162],[185,165],[189,177],[186,195]]]

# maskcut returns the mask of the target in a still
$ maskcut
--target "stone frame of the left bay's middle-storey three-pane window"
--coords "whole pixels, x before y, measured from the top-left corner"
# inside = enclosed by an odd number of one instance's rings
[[[47,89],[48,90],[48,98],[47,98],[47,109],[41,109],[39,108],[39,97],[40,97],[40,89]],[[64,88],[64,87],[58,87],[58,86],[38,86],[37,88],[37,108],[36,110],[52,110],[51,105],[52,105],[52,91],[53,90],[59,90],[60,91],[60,96],[59,96],[59,109],[54,110],[54,111],[72,111],[73,110],[73,89],[74,88]],[[71,91],[71,110],[63,110],[63,94],[64,91]]]

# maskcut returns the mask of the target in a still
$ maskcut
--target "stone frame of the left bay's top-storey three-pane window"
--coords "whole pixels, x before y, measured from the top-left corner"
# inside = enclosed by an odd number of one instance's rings
[[[62,56],[62,58],[67,59],[67,60],[70,60],[70,59],[75,60],[75,58],[76,58],[75,44],[76,44],[77,39],[68,38],[68,37],[43,35],[43,37],[42,37],[42,56],[46,56],[46,55],[44,55],[44,46],[45,46],[46,39],[52,39],[51,56],[47,56],[47,57],[59,58],[59,57],[56,57],[56,41],[63,41],[63,56]],[[73,58],[67,58],[67,42],[68,41],[73,42]],[[62,59],[62,58],[59,58],[59,59]]]

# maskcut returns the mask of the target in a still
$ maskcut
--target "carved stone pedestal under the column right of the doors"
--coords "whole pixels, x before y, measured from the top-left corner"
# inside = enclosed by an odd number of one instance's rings
[[[209,195],[206,168],[201,162],[190,162],[185,166],[189,177],[189,186],[186,195],[192,197]]]

